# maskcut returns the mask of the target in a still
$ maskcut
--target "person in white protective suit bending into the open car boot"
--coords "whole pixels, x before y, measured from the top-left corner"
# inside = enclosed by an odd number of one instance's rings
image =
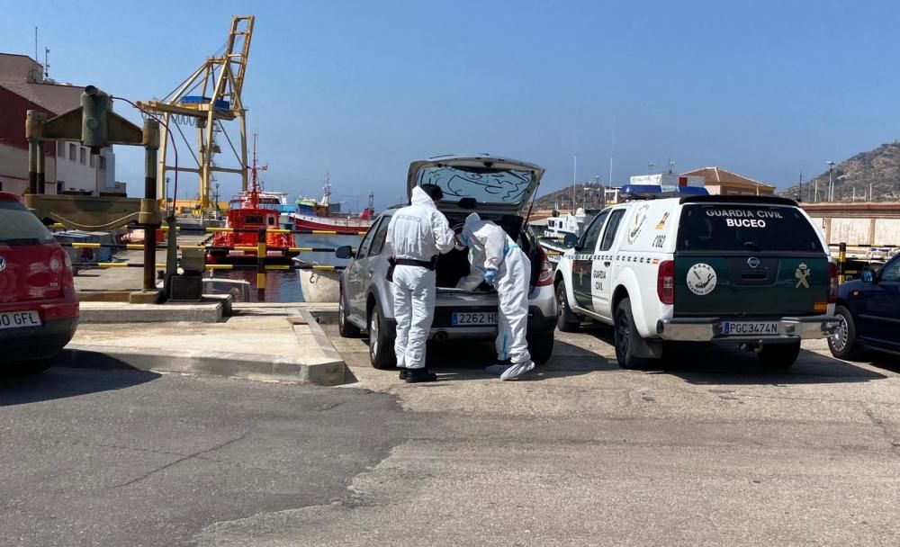
[[[478,213],[466,217],[462,239],[469,247],[472,269],[456,287],[473,291],[483,281],[497,290],[497,358],[511,364],[488,367],[488,372],[501,372],[501,380],[512,380],[535,368],[526,339],[531,261],[504,229]]]

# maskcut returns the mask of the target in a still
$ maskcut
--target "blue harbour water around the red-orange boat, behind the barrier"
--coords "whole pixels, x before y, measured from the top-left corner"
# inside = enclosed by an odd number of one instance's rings
[[[318,234],[295,234],[294,246],[296,247],[332,247],[342,245],[358,247],[361,241],[359,236],[327,236]],[[302,260],[316,265],[347,265],[349,260],[341,260],[333,252],[302,253]],[[302,302],[303,291],[300,285],[301,271],[298,270],[271,270],[266,273],[266,301],[268,302]],[[227,279],[242,279],[250,282],[250,301],[257,301],[257,273],[252,271],[218,271],[216,277]]]

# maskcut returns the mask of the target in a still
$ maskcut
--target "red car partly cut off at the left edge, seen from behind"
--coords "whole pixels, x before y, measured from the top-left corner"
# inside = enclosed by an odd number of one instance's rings
[[[77,326],[71,260],[14,194],[0,192],[0,369],[47,369]]]

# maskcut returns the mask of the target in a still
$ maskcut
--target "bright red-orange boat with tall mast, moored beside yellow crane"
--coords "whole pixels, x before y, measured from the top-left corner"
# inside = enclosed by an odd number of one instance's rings
[[[259,171],[266,166],[257,165],[257,136],[253,137],[253,165],[250,171],[250,188],[238,193],[229,201],[225,228],[212,237],[206,248],[207,264],[237,264],[257,261],[259,229],[278,229],[281,211],[272,207],[271,194],[266,197],[259,182]],[[269,264],[290,264],[297,252],[293,247],[292,234],[266,233],[266,262]]]

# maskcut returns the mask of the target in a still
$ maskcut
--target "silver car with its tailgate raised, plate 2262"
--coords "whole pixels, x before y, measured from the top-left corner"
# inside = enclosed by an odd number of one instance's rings
[[[556,327],[554,268],[544,249],[527,227],[524,209],[540,184],[544,169],[500,157],[433,157],[410,165],[407,195],[421,184],[437,184],[444,192],[439,210],[457,233],[467,215],[475,211],[494,220],[518,241],[531,261],[528,292],[528,348],[535,363],[553,354]],[[369,335],[369,360],[375,368],[395,365],[393,340],[396,321],[390,285],[385,279],[390,246],[388,223],[400,206],[384,211],[354,254],[340,247],[340,258],[352,258],[340,279],[338,327],[341,336]],[[468,251],[453,250],[437,261],[437,302],[430,339],[492,340],[497,336],[497,293],[482,283],[476,291],[455,289],[469,273]]]

